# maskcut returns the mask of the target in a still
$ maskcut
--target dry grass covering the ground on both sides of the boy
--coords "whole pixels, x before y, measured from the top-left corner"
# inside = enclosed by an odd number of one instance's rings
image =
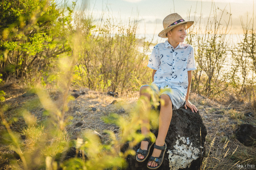
[[[38,97],[21,97],[25,89],[18,86],[4,90],[6,92],[5,103],[9,107],[5,116],[9,123],[11,123],[12,130],[29,135],[29,131],[26,128],[24,129],[26,123],[18,117],[19,114],[16,114],[18,121],[12,122],[13,115],[15,115],[15,111],[25,106],[37,118],[38,124],[40,121],[44,121],[46,117],[44,115],[44,109],[40,104],[34,105],[33,107],[26,105],[28,101],[37,101]],[[76,89],[76,92],[72,92],[72,90],[69,91],[69,94],[77,93],[80,96],[68,104],[69,110],[67,111],[66,119],[70,119],[70,123],[66,126],[67,138],[77,138],[82,135],[84,130],[91,129],[97,131],[102,137],[103,142],[106,143],[108,143],[109,138],[104,133],[104,130],[114,131],[116,137],[118,137],[120,132],[119,127],[104,123],[101,117],[109,116],[111,113],[117,113],[129,121],[128,113],[135,107],[139,97],[138,92],[132,95],[114,98],[106,93],[95,92],[89,89],[80,88]],[[81,95],[82,92],[85,92],[85,94]],[[49,90],[49,93],[53,102],[57,102],[58,100],[54,100],[54,97],[58,94],[56,90]],[[110,104],[113,100],[117,101],[116,104]],[[227,110],[228,106],[194,93],[191,94],[190,101],[199,109],[199,113],[207,128],[205,143],[206,157],[203,161],[203,165],[206,166],[205,169],[236,169],[235,163],[238,161],[240,164],[242,162],[243,164],[256,164],[256,148],[243,146],[234,135],[234,131],[238,125],[242,123],[255,124],[255,118],[243,116],[243,107],[234,105],[233,103],[230,105],[231,109]],[[96,111],[92,111],[92,107],[96,108]],[[217,111],[223,111],[223,113],[215,114]],[[78,122],[82,122],[82,126],[76,127]],[[0,131],[3,130],[4,127],[0,126]],[[215,140],[213,142],[214,138]],[[35,141],[25,140],[24,146],[26,142],[31,143]],[[224,146],[226,147],[223,148]],[[233,152],[234,154],[232,154]],[[6,153],[7,155],[12,155],[13,151],[9,150],[6,145],[0,144],[0,153],[1,155]],[[209,155],[207,156],[208,153]],[[6,169],[10,169],[10,165],[8,165],[4,157],[0,158],[0,165],[4,165]]]

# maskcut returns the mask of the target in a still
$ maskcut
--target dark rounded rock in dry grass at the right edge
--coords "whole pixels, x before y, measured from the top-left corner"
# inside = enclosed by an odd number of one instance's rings
[[[256,146],[256,126],[250,124],[242,124],[236,129],[236,138],[245,146]]]

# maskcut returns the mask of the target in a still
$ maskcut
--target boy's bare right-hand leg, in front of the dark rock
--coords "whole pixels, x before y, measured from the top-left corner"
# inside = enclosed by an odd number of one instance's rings
[[[163,146],[172,119],[172,101],[166,94],[162,94],[160,98],[161,109],[159,114],[159,128],[155,144],[158,146]],[[162,101],[164,101],[164,103]],[[154,148],[152,156],[159,157],[160,154],[161,150]],[[157,165],[158,164],[155,161],[148,162],[148,166],[155,167]]]

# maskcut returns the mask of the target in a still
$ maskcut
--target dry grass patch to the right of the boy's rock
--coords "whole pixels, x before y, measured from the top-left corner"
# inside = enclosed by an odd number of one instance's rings
[[[255,125],[254,117],[244,116],[248,111],[246,106],[241,103],[240,105],[238,103],[232,103],[230,106],[223,105],[195,93],[191,94],[190,100],[198,107],[207,129],[205,146],[206,153],[209,155],[207,157],[206,154],[204,158],[205,169],[237,169],[235,164],[238,161],[238,164],[256,164],[256,148],[244,146],[234,134],[238,126],[243,123]],[[215,114],[218,111],[223,113]],[[213,139],[215,139],[214,142]],[[223,149],[227,141],[229,142]]]

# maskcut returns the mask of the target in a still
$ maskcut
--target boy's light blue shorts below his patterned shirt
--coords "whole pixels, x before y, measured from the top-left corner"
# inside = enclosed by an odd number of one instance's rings
[[[153,90],[153,92],[155,92],[154,95],[159,95],[159,96],[161,96],[162,94],[168,95],[172,101],[172,110],[177,110],[180,107],[184,107],[186,104],[186,101],[185,101],[186,96],[178,89],[165,88],[168,90],[160,93],[161,88],[158,86],[152,86],[152,85],[143,85],[143,86],[149,86]]]

